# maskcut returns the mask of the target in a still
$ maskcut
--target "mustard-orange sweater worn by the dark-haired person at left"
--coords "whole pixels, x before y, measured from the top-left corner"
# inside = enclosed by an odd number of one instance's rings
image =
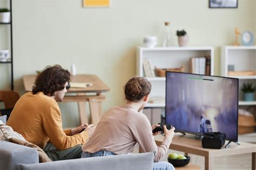
[[[58,103],[43,92],[24,94],[12,110],[7,125],[37,146],[44,148],[50,139],[57,149],[68,149],[85,144],[87,132],[71,136],[71,130],[63,131]]]

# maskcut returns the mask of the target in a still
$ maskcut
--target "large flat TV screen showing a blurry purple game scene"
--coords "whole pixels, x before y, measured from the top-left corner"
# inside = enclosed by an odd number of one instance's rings
[[[166,72],[166,124],[177,132],[221,132],[238,140],[238,79]]]

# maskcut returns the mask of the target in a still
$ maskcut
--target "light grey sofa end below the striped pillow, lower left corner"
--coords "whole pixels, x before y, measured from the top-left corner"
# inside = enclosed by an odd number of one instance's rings
[[[0,169],[18,169],[18,164],[39,163],[36,149],[0,140]]]

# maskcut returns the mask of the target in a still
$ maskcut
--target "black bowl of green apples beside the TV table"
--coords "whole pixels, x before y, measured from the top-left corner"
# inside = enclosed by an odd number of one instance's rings
[[[190,157],[183,154],[170,153],[167,159],[174,167],[186,166],[190,163]]]

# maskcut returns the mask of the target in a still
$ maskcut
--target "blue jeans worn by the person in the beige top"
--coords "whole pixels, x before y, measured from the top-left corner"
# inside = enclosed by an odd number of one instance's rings
[[[111,156],[116,155],[113,152],[109,151],[98,151],[95,153],[83,152],[81,158],[90,158],[90,157],[103,157],[103,156]],[[153,170],[175,170],[172,164],[169,162],[153,162]]]

